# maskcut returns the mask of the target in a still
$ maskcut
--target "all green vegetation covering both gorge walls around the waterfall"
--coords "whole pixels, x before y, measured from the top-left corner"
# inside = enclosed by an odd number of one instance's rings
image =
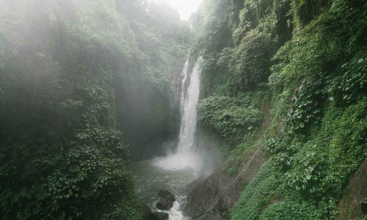
[[[333,219],[367,157],[365,0],[204,0],[189,25],[164,1],[0,11],[2,219],[141,219],[130,159],[177,135],[190,47],[226,172],[269,157],[226,217]]]

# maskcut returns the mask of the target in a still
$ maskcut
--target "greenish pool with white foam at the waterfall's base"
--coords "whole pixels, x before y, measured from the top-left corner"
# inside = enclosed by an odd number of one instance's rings
[[[177,201],[167,212],[170,220],[189,220],[183,216],[180,208],[185,200],[183,189],[199,177],[198,163],[195,155],[172,155],[158,157],[149,161],[132,164],[135,191],[140,201],[150,206],[153,212],[160,211],[155,207],[161,189],[172,192]]]

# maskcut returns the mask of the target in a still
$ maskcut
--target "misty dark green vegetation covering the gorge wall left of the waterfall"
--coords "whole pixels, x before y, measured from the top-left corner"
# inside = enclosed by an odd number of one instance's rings
[[[177,129],[171,80],[188,25],[141,0],[0,11],[1,219],[141,219],[125,140]]]

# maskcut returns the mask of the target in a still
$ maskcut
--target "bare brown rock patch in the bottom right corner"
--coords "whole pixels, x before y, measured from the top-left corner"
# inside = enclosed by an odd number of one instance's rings
[[[343,197],[338,204],[337,220],[363,219],[367,214],[367,159],[345,187]]]

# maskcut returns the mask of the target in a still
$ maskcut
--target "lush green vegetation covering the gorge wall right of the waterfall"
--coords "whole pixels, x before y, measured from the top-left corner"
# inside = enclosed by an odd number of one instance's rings
[[[230,219],[337,214],[367,157],[366,15],[366,1],[347,0],[206,0],[192,15],[199,126],[215,131],[232,175],[251,149],[269,156]]]

